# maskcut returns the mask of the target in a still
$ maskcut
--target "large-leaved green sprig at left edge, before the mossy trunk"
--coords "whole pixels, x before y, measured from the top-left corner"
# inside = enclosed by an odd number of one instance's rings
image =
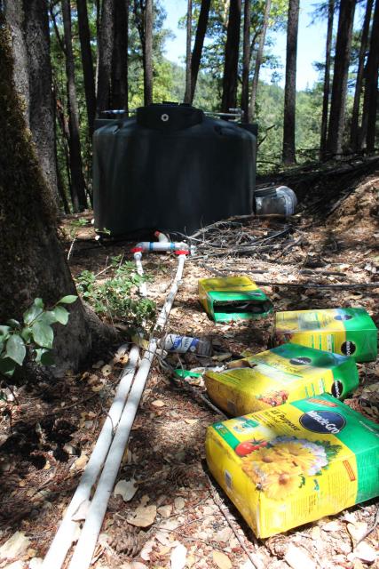
[[[37,298],[24,312],[22,324],[12,318],[0,325],[0,373],[11,377],[17,365],[23,365],[28,348],[37,364],[53,365],[54,331],[51,325],[67,325],[69,312],[64,305],[72,304],[76,299],[77,296],[69,294],[48,310],[44,308],[43,300]]]

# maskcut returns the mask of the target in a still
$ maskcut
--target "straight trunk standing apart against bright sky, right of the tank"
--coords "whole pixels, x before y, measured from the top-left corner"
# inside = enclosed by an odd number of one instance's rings
[[[299,0],[289,0],[287,26],[286,86],[284,90],[283,162],[296,163],[296,56]]]

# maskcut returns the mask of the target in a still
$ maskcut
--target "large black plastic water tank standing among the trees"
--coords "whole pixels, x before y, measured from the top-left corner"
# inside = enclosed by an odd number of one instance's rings
[[[257,137],[188,105],[153,104],[101,121],[93,138],[95,227],[112,236],[191,234],[249,214]]]

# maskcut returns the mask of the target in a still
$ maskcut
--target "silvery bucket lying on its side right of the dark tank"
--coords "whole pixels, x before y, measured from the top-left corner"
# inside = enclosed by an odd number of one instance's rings
[[[254,199],[259,217],[265,215],[288,217],[294,214],[297,205],[294,190],[287,186],[257,189],[254,192]]]

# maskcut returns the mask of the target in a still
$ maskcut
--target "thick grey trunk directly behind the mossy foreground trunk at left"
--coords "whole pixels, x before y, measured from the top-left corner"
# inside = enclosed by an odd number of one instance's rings
[[[25,100],[43,175],[59,204],[47,1],[8,0],[6,12],[14,34],[16,85]]]

